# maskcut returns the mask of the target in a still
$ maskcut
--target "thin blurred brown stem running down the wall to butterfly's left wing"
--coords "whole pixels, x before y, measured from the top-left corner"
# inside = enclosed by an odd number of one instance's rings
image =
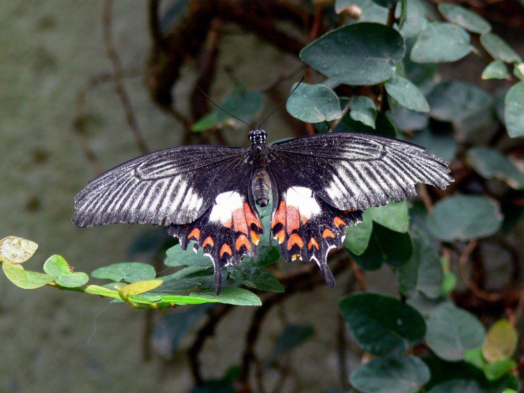
[[[146,141],[140,132],[138,121],[136,119],[135,112],[133,111],[131,100],[129,99],[129,94],[127,93],[127,90],[124,86],[122,63],[118,53],[116,52],[115,44],[111,35],[112,10],[113,0],[105,0],[102,12],[102,26],[107,57],[109,58],[113,67],[113,80],[115,82],[115,89],[118,97],[120,98],[120,101],[122,102],[122,106],[124,107],[127,124],[133,132],[135,143],[138,149],[142,154],[146,154],[149,149],[147,148]]]

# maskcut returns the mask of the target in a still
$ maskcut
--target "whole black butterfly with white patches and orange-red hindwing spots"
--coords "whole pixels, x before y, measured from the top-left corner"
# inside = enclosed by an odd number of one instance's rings
[[[268,146],[252,128],[250,148],[174,147],[105,172],[75,198],[73,223],[168,226],[183,249],[192,242],[211,258],[219,293],[224,266],[256,257],[264,228],[255,205],[272,193],[282,259],[314,260],[333,287],[329,250],[342,247],[363,210],[414,196],[419,182],[441,190],[453,182],[449,162],[401,140],[326,133]]]

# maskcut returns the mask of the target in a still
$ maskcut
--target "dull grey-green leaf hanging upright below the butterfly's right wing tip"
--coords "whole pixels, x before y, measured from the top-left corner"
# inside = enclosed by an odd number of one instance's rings
[[[439,254],[420,231],[414,231],[411,237],[413,253],[408,263],[397,269],[399,290],[406,297],[413,297],[417,291],[430,299],[442,296],[444,272]]]

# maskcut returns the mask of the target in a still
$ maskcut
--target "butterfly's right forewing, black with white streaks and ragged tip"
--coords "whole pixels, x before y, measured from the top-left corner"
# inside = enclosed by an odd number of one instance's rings
[[[416,195],[414,185],[444,189],[453,182],[449,162],[424,148],[387,137],[330,133],[270,146],[287,176],[341,210],[364,210]]]

